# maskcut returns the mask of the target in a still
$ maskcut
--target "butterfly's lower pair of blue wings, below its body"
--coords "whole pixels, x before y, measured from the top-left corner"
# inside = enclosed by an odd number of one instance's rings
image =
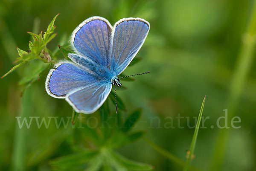
[[[70,63],[60,64],[49,72],[47,93],[55,98],[66,98],[78,113],[93,113],[108,97],[111,82]]]

